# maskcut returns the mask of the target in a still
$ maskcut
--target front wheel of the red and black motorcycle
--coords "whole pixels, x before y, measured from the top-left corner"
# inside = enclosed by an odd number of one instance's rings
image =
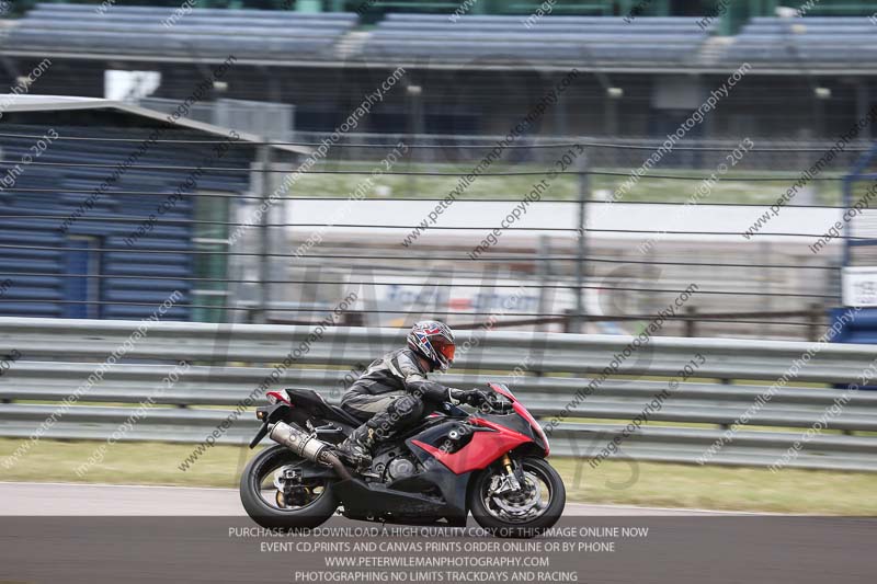
[[[486,468],[469,491],[478,525],[498,537],[529,538],[554,526],[563,514],[567,491],[560,474],[542,458],[521,458],[524,482],[511,490],[501,465]]]

